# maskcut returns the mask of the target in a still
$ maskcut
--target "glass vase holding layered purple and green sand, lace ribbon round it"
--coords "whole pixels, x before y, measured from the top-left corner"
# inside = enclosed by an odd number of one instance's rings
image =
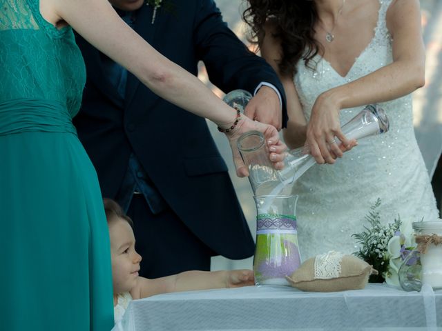
[[[297,195],[256,196],[256,285],[290,285],[285,279],[300,265],[296,227]]]

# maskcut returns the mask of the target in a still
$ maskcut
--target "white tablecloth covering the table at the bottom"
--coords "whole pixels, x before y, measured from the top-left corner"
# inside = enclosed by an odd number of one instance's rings
[[[300,292],[285,286],[161,294],[132,301],[119,330],[442,330],[442,290]]]

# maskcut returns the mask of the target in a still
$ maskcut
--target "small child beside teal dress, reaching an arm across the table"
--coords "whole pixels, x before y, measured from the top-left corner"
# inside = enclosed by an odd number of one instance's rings
[[[251,270],[187,271],[157,279],[140,277],[142,257],[135,251],[132,220],[111,199],[104,199],[104,210],[111,238],[115,323],[122,319],[131,300],[169,292],[254,285]]]

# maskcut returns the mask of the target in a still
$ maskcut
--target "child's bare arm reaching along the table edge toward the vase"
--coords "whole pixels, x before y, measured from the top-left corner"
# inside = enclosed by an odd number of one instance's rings
[[[247,285],[254,285],[251,270],[186,271],[157,279],[139,277],[131,294],[133,299],[141,299],[162,293],[208,290],[211,288],[237,288]]]

